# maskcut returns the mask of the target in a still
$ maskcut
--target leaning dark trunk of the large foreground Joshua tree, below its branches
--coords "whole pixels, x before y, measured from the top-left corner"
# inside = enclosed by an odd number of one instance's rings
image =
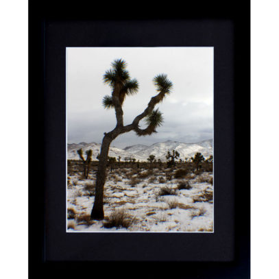
[[[104,219],[104,184],[106,182],[106,165],[108,162],[108,150],[110,149],[111,142],[112,138],[106,134],[101,143],[101,153],[99,156],[99,166],[96,177],[95,201],[91,211],[91,219],[95,220]]]

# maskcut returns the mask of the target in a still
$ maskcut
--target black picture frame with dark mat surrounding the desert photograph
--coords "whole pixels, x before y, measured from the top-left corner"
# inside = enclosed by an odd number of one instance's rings
[[[167,11],[162,7],[162,12],[156,13],[158,16],[138,8],[133,16],[123,13],[120,19],[114,6],[99,8],[98,12],[95,7],[95,12],[90,12],[89,2],[71,7],[71,1],[45,1],[44,5],[40,10],[36,1],[29,1],[30,278],[37,276],[35,267],[44,276],[58,270],[64,276],[80,276],[100,267],[106,269],[107,278],[109,274],[117,276],[115,270],[119,267],[125,270],[126,265],[134,267],[138,274],[139,269],[150,268],[149,276],[154,272],[154,276],[164,277],[177,273],[180,278],[250,278],[250,1],[241,5],[226,2],[225,6],[219,1],[192,4],[186,12],[175,7],[175,16],[171,16],[169,8]],[[214,241],[206,234],[171,238],[169,234],[119,234],[117,238],[114,234],[86,234],[82,240],[82,234],[66,234],[60,219],[65,212],[62,203],[65,189],[60,184],[65,175],[66,142],[62,49],[67,44],[77,47],[220,44],[221,56],[215,56],[215,73],[223,78],[215,75],[215,92],[224,91],[215,95],[215,129],[219,129],[215,132],[219,149],[215,154],[215,171],[220,181],[215,188],[215,217],[220,214],[216,218],[221,221],[215,227]],[[236,158],[243,159],[236,163]],[[222,187],[221,181],[230,186]],[[220,230],[222,233],[218,234]],[[94,252],[88,254],[84,247],[92,248],[92,243]],[[214,254],[213,260],[206,252]]]

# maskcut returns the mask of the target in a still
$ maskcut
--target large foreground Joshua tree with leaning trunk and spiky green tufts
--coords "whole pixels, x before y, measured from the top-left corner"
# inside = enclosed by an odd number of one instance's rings
[[[104,82],[108,84],[112,90],[111,95],[106,95],[103,99],[104,108],[114,109],[117,119],[117,125],[110,132],[104,133],[104,138],[101,143],[101,152],[99,156],[99,165],[96,177],[95,202],[91,211],[91,219],[104,219],[104,184],[106,182],[106,162],[110,143],[120,134],[130,131],[136,132],[138,136],[147,136],[156,133],[156,128],[162,125],[162,113],[155,106],[159,104],[167,94],[171,92],[172,82],[167,79],[167,75],[160,74],[154,77],[154,85],[156,86],[157,94],[151,97],[145,110],[138,114],[129,125],[123,125],[123,101],[125,97],[134,95],[138,92],[138,82],[136,79],[131,79],[130,74],[126,70],[126,62],[122,59],[112,62],[112,69],[104,74]],[[142,129],[139,123],[145,119],[147,127]]]

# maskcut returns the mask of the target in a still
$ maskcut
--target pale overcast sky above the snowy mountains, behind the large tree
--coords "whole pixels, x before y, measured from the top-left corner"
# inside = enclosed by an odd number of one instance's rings
[[[125,147],[162,141],[195,143],[213,138],[213,47],[68,47],[66,49],[68,143],[101,143],[104,132],[116,125],[114,110],[105,110],[101,100],[110,95],[103,75],[113,60],[122,58],[139,84],[137,95],[123,104],[124,125],[145,110],[156,95],[153,78],[166,73],[173,90],[156,106],[164,124],[151,136],[129,132],[112,145]],[[145,125],[141,121],[141,128]]]

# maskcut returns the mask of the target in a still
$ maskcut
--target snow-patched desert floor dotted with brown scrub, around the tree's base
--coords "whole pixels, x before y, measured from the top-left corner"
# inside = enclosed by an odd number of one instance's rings
[[[68,171],[67,232],[213,232],[213,173],[118,168],[104,186],[102,221],[90,220],[95,173]],[[176,177],[176,178],[175,178]]]

